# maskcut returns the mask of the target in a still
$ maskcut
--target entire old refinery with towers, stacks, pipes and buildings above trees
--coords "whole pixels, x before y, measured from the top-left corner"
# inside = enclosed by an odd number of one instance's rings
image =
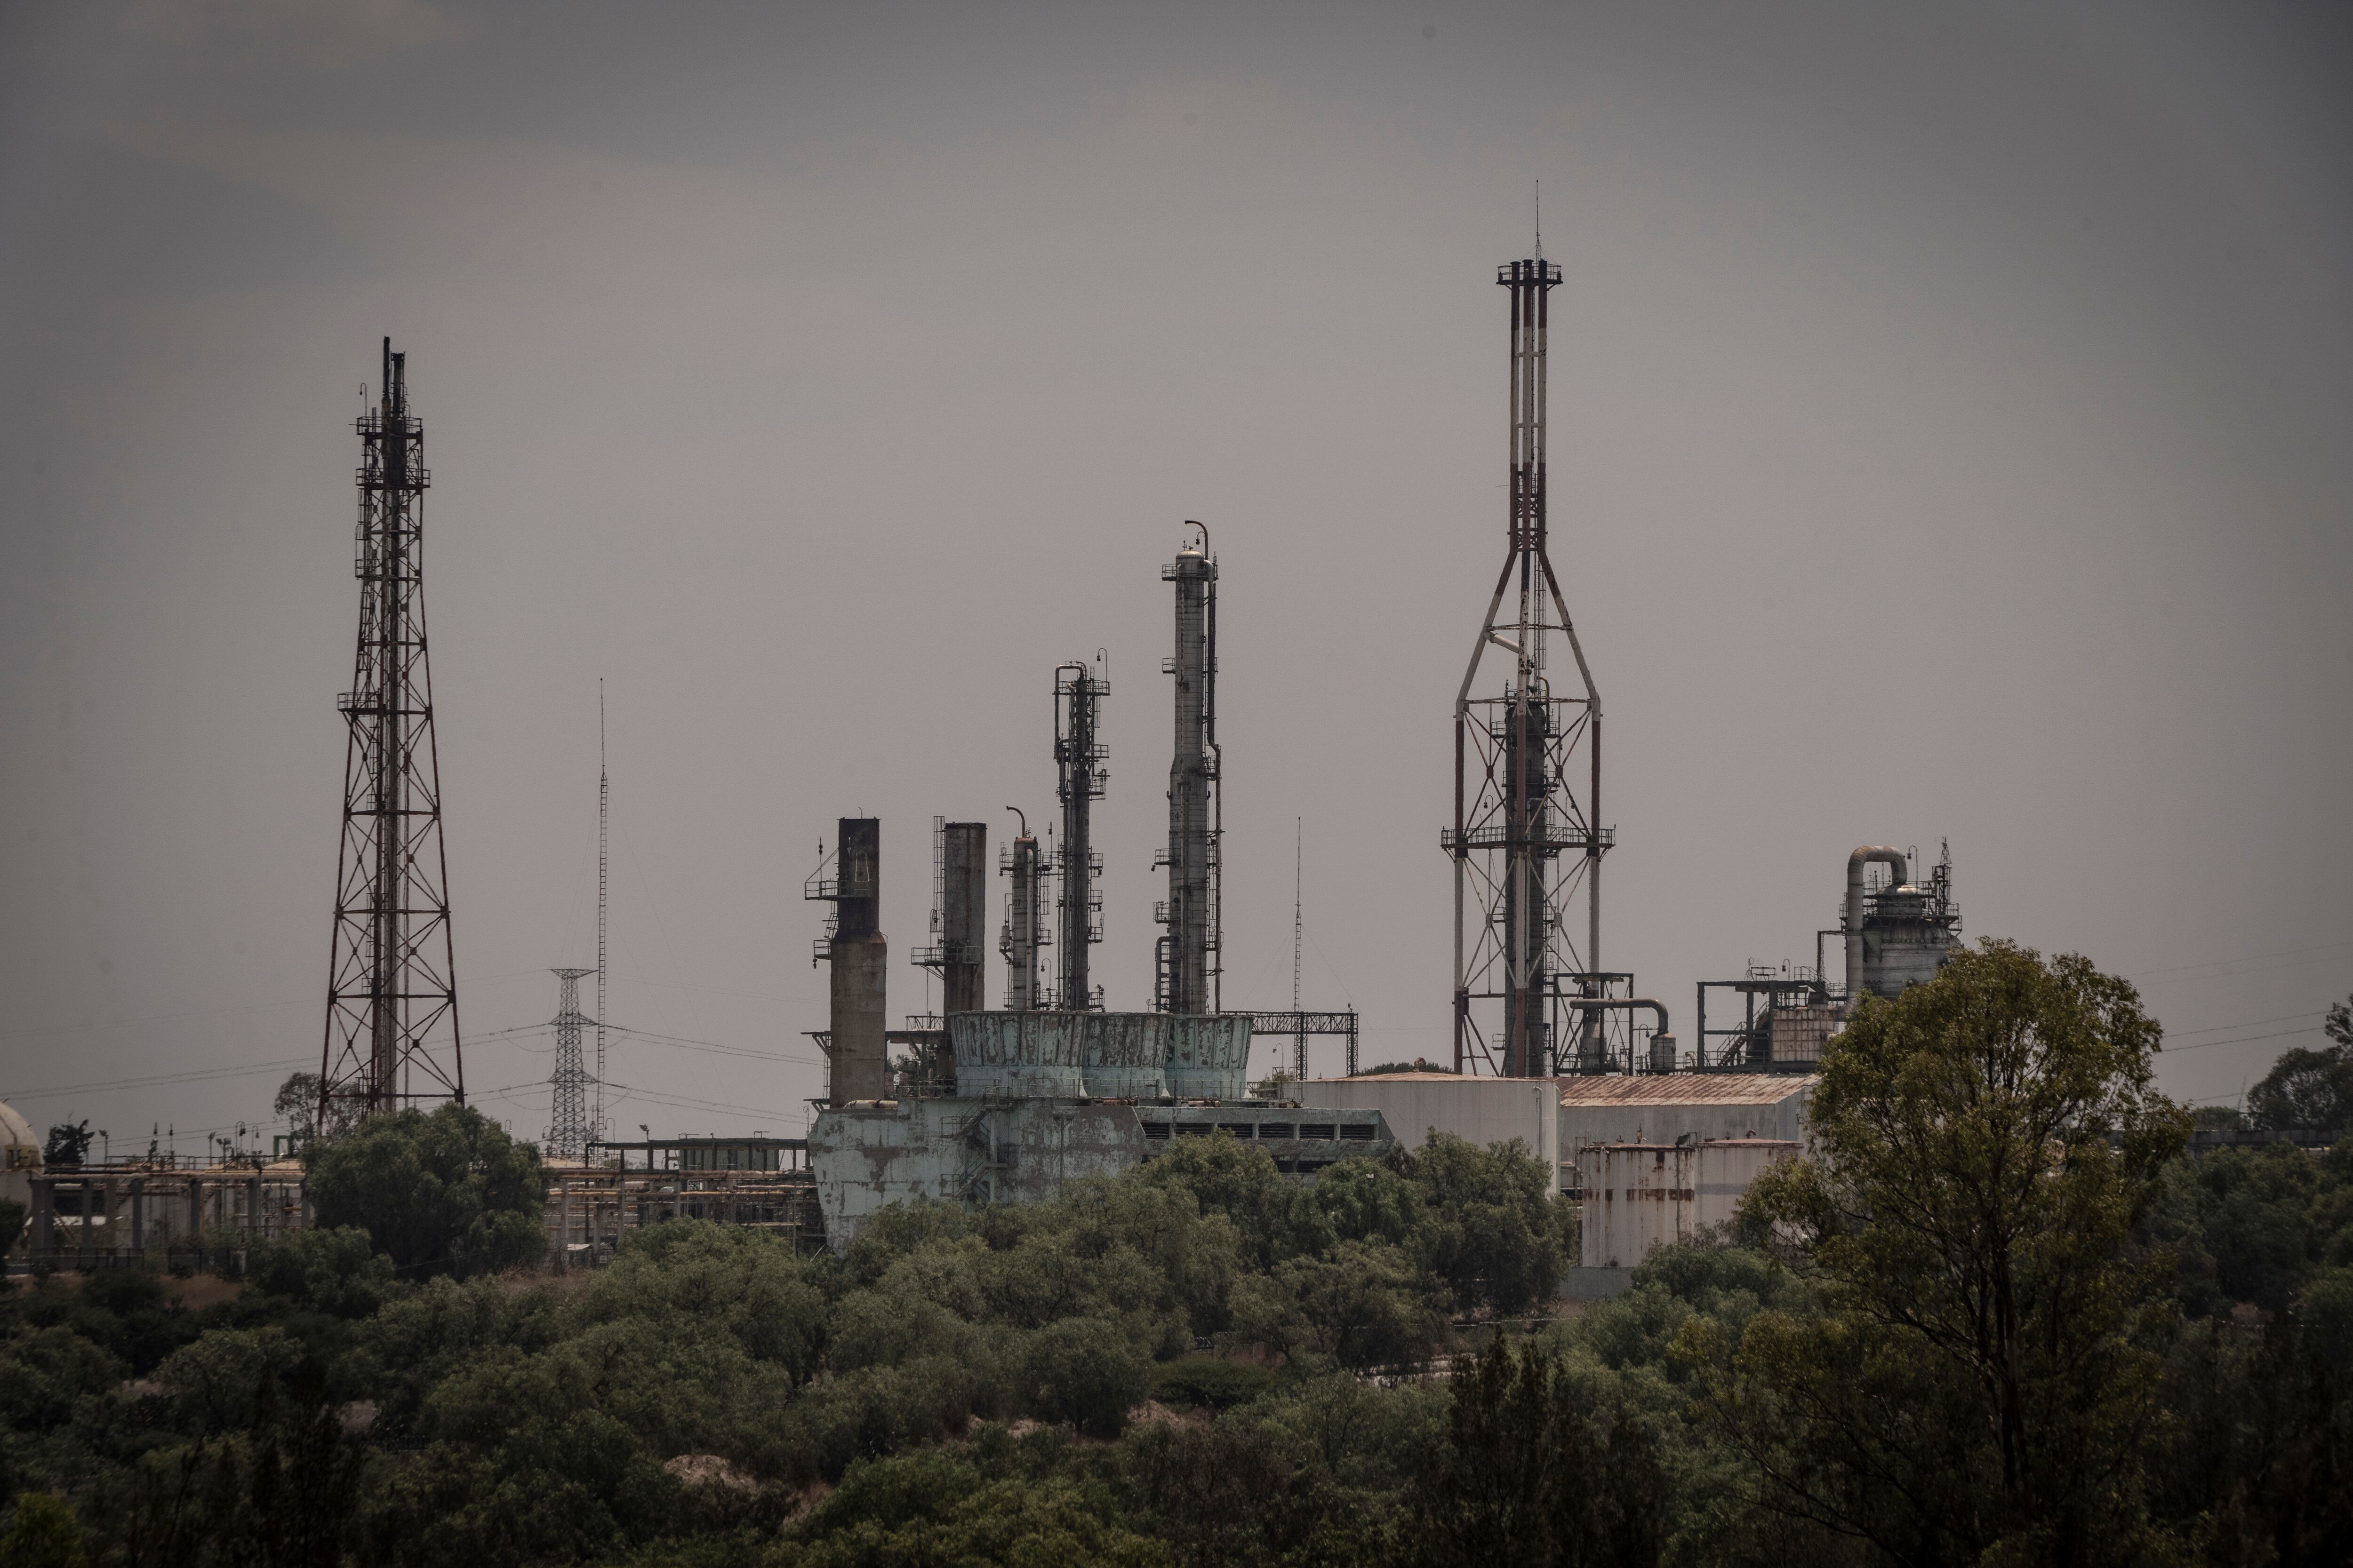
[[[1339,1159],[1435,1131],[1520,1138],[1555,1166],[1588,1213],[1579,1274],[1607,1291],[1659,1241],[1720,1222],[1758,1171],[1800,1147],[1809,1070],[1849,1006],[1927,980],[1958,943],[1951,853],[1922,867],[1911,851],[1859,846],[1838,924],[1814,933],[1817,961],[1699,983],[1682,1037],[1668,999],[1605,966],[1602,863],[1617,835],[1602,816],[1598,651],[1579,642],[1548,555],[1546,334],[1560,268],[1534,256],[1499,268],[1497,282],[1511,320],[1506,550],[1454,701],[1454,799],[1438,832],[1454,900],[1452,1039],[1431,1041],[1440,1060],[1360,1074],[1355,1013],[1306,1011],[1297,985],[1289,1009],[1228,1006],[1219,559],[1209,529],[1186,522],[1160,569],[1172,597],[1172,752],[1151,1006],[1113,1009],[1089,966],[1104,938],[1094,806],[1108,788],[1111,682],[1101,654],[1080,656],[1040,670],[1054,809],[1002,806],[1002,842],[991,820],[929,825],[932,910],[908,961],[936,976],[939,1013],[894,1027],[885,825],[838,818],[805,886],[824,907],[812,961],[826,966],[831,997],[821,1027],[807,1030],[828,1067],[807,1135],[616,1138],[605,1112],[600,778],[598,964],[555,971],[541,1138],[560,1267],[595,1265],[621,1232],[673,1215],[845,1248],[894,1201],[1042,1201],[1184,1138],[1247,1140],[1311,1182]],[[424,616],[428,470],[391,341],[358,437],[360,632],[339,698],[344,835],[311,1135],[466,1098]],[[1824,884],[1828,893],[1828,867]],[[1835,985],[1828,938],[1845,959]],[[586,1006],[584,980],[595,990]],[[1344,1074],[1308,1077],[1311,1034],[1344,1039]],[[1289,1070],[1252,1081],[1254,1037],[1289,1041]],[[45,1171],[24,1133],[9,1145],[9,1182],[33,1211],[33,1251],[59,1237],[87,1251],[169,1248],[224,1227],[299,1227],[308,1213],[287,1159]]]

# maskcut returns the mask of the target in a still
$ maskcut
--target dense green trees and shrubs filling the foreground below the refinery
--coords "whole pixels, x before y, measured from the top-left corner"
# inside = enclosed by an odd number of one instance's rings
[[[2080,959],[1972,950],[1859,1011],[1741,1234],[1579,1314],[1508,1145],[1304,1187],[1184,1140],[845,1258],[671,1222],[548,1276],[527,1150],[386,1119],[235,1295],[0,1298],[0,1556],[2353,1561],[2353,1140],[2191,1157],[2153,1048]]]

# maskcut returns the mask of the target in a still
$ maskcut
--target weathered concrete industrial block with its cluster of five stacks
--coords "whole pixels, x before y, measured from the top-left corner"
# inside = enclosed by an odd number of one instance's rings
[[[882,823],[842,818],[831,865],[805,893],[833,905],[816,961],[831,964],[831,1018],[816,1032],[828,1065],[826,1105],[807,1154],[826,1241],[849,1246],[887,1204],[1040,1201],[1066,1182],[1118,1175],[1181,1138],[1261,1145],[1275,1168],[1313,1180],[1346,1154],[1381,1154],[1395,1138],[1377,1107],[1306,1107],[1254,1098],[1249,1041],[1266,1018],[1301,1034],[1301,1013],[1226,1013],[1219,898],[1217,562],[1207,529],[1162,571],[1174,583],[1174,752],[1169,835],[1155,858],[1167,900],[1153,947],[1153,1011],[1104,1006],[1089,950],[1104,940],[1101,851],[1092,809],[1108,769],[1099,736],[1111,696],[1101,658],[1054,670],[1054,769],[1061,842],[1040,846],[1028,816],[1005,853],[1009,879],[998,950],[1007,1006],[988,1011],[981,867],[986,823],[934,825],[934,945],[915,961],[941,978],[941,1013],[887,1027],[889,943],[880,924]],[[1047,884],[1054,922],[1045,922]],[[1049,936],[1052,931],[1052,936]],[[1040,950],[1054,950],[1054,983]],[[1320,1020],[1318,1020],[1320,1023]],[[1353,1041],[1353,1016],[1346,1030]],[[1327,1027],[1327,1025],[1320,1025]],[[889,1048],[906,1053],[892,1060]],[[1351,1051],[1353,1056],[1353,1051]]]

